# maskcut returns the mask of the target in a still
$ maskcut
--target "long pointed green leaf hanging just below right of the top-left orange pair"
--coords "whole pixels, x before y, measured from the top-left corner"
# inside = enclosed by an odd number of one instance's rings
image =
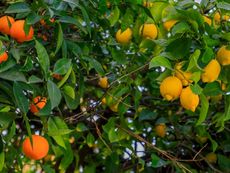
[[[35,40],[35,48],[38,54],[38,62],[41,65],[41,68],[45,74],[45,79],[48,78],[48,72],[50,68],[50,60],[49,55],[45,49],[45,47],[39,43],[37,40]]]

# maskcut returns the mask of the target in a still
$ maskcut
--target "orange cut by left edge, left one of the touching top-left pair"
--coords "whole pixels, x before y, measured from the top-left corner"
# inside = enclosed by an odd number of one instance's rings
[[[9,35],[11,25],[14,23],[14,18],[11,16],[3,16],[0,18],[0,23],[0,32]]]

